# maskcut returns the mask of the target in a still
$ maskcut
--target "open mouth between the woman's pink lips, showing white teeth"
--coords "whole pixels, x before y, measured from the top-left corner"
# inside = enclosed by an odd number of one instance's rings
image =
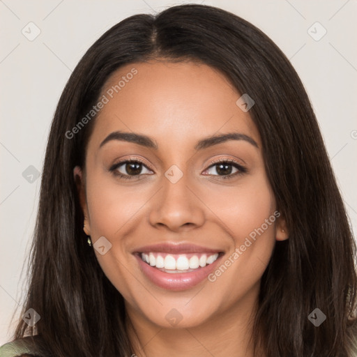
[[[223,253],[209,252],[176,255],[166,252],[138,252],[137,254],[146,264],[165,273],[190,273],[212,264]]]

